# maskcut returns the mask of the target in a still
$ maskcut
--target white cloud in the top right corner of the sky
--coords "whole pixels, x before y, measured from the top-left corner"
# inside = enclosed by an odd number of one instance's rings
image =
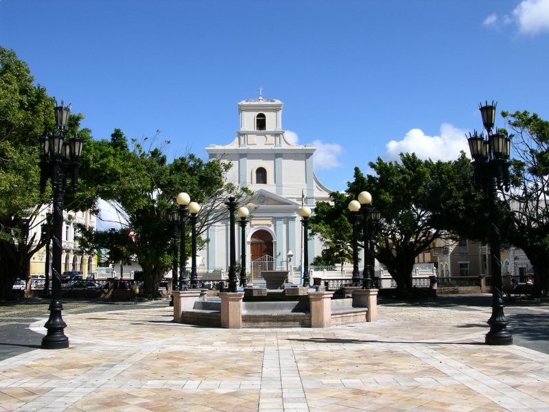
[[[549,0],[522,0],[511,14],[504,14],[500,19],[492,13],[482,24],[498,27],[500,21],[503,25],[516,23],[520,34],[535,35],[549,31]]]

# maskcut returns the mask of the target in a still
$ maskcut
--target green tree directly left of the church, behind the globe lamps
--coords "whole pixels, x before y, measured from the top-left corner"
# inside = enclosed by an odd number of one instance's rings
[[[95,194],[108,201],[124,217],[121,229],[106,232],[82,231],[81,243],[88,251],[109,249],[113,262],[135,256],[143,268],[145,288],[158,290],[159,283],[172,264],[172,231],[166,220],[174,209],[179,192],[203,205],[197,233],[202,233],[215,219],[224,217],[215,202],[220,202],[238,188],[224,182],[230,167],[221,161],[205,162],[189,154],[167,162],[162,148],[154,140],[133,140],[128,148],[126,137],[115,130],[110,141],[95,141],[89,148],[86,181],[93,182]],[[130,236],[130,231],[134,236]],[[190,247],[190,242],[187,242]]]

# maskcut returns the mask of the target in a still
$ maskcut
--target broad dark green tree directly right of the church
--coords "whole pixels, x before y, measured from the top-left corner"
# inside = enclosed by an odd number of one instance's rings
[[[411,290],[415,258],[447,233],[468,236],[478,218],[482,194],[471,183],[472,168],[462,154],[456,161],[421,160],[414,154],[402,154],[400,161],[371,162],[375,174],[364,176],[355,168],[354,180],[347,184],[346,195],[334,195],[333,205],[319,204],[312,220],[314,231],[329,237],[338,229],[326,227],[336,216],[346,219],[338,233],[351,239],[349,201],[367,190],[373,206],[382,212],[377,232],[375,257],[386,266],[401,293]]]

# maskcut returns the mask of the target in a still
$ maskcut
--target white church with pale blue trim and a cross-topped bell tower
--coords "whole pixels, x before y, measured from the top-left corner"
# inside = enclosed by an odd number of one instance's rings
[[[314,174],[315,148],[292,144],[282,128],[280,100],[259,98],[238,104],[240,128],[226,145],[206,148],[209,159],[231,162],[227,179],[248,187],[253,196],[240,199],[250,211],[246,226],[246,273],[259,279],[260,270],[290,270],[303,267],[303,227],[299,208],[312,209],[318,201],[329,201],[329,192]],[[241,255],[240,218],[236,217],[237,262]],[[229,268],[229,218],[209,227],[209,242],[204,251],[207,271]],[[318,238],[307,240],[309,262],[320,255]],[[294,282],[299,282],[299,271]]]

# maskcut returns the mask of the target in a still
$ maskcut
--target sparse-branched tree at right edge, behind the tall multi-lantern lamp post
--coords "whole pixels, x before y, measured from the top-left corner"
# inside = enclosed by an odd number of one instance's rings
[[[549,290],[549,122],[528,111],[502,112],[514,131],[509,241],[520,247],[535,273],[535,294]]]

